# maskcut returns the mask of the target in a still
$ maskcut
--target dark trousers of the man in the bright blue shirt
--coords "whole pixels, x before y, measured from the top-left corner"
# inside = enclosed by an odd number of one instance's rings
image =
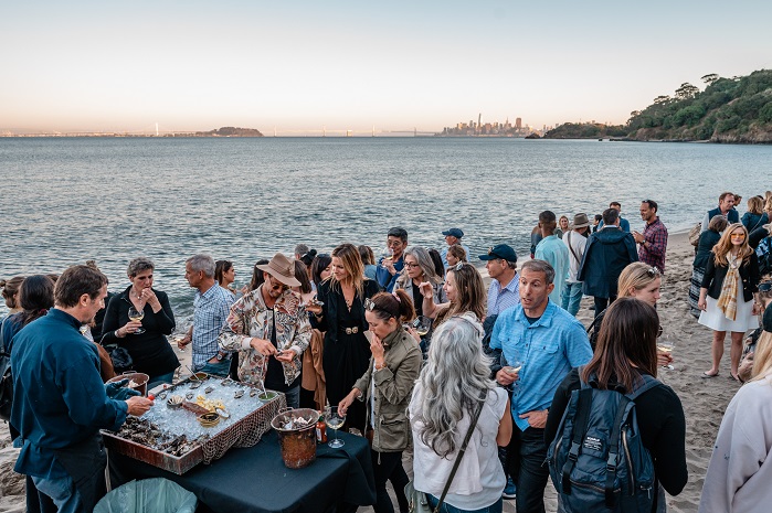
[[[544,488],[550,475],[544,430],[521,431],[515,424],[507,452],[509,474],[517,485],[517,513],[544,513]]]

